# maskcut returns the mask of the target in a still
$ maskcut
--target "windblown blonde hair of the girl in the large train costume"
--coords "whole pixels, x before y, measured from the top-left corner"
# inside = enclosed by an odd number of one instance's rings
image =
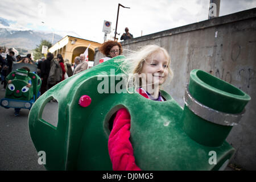
[[[142,47],[139,51],[133,51],[130,56],[127,56],[126,59],[122,60],[123,62],[121,63],[120,68],[122,72],[128,76],[127,86],[129,85],[128,83],[131,82],[133,83],[135,88],[141,86],[140,83],[136,80],[138,80],[138,75],[141,74],[143,65],[147,64],[145,63],[145,60],[150,59],[152,55],[158,52],[162,52],[168,60],[168,67],[166,69],[168,69],[168,76],[170,77],[170,81],[172,80],[172,78],[174,77],[174,73],[170,68],[171,59],[166,49],[157,45],[148,45]]]

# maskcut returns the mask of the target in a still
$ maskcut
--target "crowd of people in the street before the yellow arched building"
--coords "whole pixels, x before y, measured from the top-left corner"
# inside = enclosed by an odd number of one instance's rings
[[[0,73],[1,84],[3,85],[3,88],[1,89],[2,91],[6,90],[6,86],[8,84],[6,76],[13,71],[13,64],[24,63],[32,64],[37,67],[36,73],[42,80],[42,86],[40,88],[41,94],[60,81],[63,81],[65,78],[84,71],[88,67],[88,63],[86,63],[85,56],[83,54],[75,57],[74,64],[72,64],[69,63],[68,59],[64,60],[61,54],[57,54],[57,56],[54,57],[51,52],[48,52],[46,57],[43,56],[38,61],[32,60],[31,54],[22,57],[20,55],[15,56],[13,51],[9,51],[9,53],[6,54],[6,57],[2,57],[2,52],[3,50],[0,48]]]

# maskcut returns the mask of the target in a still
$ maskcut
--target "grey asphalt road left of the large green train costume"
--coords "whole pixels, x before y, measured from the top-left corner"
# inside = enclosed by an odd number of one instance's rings
[[[0,85],[0,99],[5,97],[2,88]],[[0,106],[0,171],[46,170],[38,164],[38,152],[28,130],[28,113],[28,109],[21,109],[15,117],[14,109]]]

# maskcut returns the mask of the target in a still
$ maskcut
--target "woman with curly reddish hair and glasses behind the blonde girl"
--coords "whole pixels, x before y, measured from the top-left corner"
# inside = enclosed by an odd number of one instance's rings
[[[109,40],[101,44],[100,52],[102,52],[106,56],[100,59],[100,63],[103,63],[104,61],[108,61],[115,56],[121,55],[123,52],[123,49],[119,42]]]

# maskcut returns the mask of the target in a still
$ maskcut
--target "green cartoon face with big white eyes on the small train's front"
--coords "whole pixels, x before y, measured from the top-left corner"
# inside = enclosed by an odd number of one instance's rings
[[[28,82],[15,79],[11,84],[7,85],[6,98],[15,100],[28,101],[31,100],[33,94],[32,89],[27,87]]]

